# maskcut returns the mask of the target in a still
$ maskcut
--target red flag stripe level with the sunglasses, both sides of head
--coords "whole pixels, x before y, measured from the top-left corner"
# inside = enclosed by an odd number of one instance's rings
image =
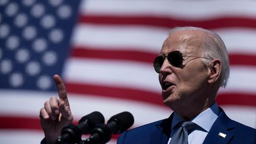
[[[97,59],[114,59],[114,60],[136,60],[152,64],[153,59],[158,53],[148,53],[136,50],[116,50],[100,49],[94,47],[73,47],[73,57],[89,57]],[[123,48],[122,48],[123,49]],[[127,48],[128,49],[128,48]],[[129,48],[131,49],[131,48]],[[256,56],[249,54],[229,54],[230,65],[249,65],[256,66]]]

